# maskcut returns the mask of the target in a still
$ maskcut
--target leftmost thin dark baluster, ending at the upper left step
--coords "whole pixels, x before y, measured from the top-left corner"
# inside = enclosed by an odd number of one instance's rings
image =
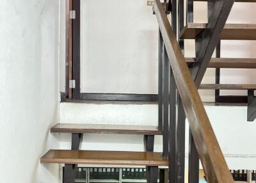
[[[159,29],[159,65],[158,65],[158,129],[163,130],[163,37]]]

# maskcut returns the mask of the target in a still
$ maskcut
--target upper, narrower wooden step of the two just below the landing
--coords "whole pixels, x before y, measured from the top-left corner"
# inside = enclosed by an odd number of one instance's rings
[[[163,134],[163,131],[159,131],[156,126],[148,125],[96,125],[72,123],[57,123],[51,127],[51,132],[147,135]]]

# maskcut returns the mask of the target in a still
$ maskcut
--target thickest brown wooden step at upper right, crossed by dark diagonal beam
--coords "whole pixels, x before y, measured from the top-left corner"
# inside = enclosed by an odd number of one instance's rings
[[[182,39],[195,39],[207,24],[187,24],[180,33]],[[226,24],[221,34],[222,40],[256,40],[256,24]]]

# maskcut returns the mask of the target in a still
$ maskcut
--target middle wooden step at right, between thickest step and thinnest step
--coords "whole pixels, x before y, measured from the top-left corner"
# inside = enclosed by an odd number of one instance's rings
[[[186,58],[188,65],[196,58]],[[256,68],[256,58],[212,58],[208,68]]]

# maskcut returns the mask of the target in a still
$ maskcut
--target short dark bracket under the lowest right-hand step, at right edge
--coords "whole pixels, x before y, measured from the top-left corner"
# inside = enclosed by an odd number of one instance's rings
[[[253,122],[256,118],[256,97],[254,90],[248,90],[247,121]]]

